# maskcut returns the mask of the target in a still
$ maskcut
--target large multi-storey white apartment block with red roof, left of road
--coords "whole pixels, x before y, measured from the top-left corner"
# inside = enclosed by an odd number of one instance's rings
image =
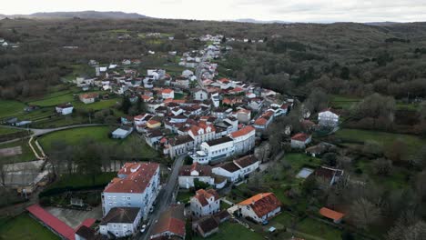
[[[102,193],[102,212],[113,207],[138,207],[143,219],[159,191],[159,165],[153,163],[127,163],[117,177],[106,185]]]

